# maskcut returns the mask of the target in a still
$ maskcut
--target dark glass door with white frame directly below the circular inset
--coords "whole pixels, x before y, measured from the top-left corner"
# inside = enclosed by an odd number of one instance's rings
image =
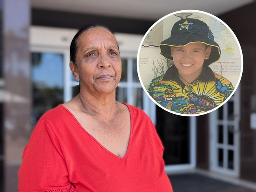
[[[169,174],[194,169],[196,165],[196,117],[156,109],[156,128],[165,148],[163,159]]]

